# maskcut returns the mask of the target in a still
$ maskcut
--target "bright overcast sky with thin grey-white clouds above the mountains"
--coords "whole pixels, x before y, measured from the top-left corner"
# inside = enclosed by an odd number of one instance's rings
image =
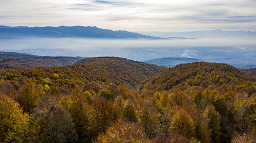
[[[0,0],[0,25],[256,31],[256,0]]]

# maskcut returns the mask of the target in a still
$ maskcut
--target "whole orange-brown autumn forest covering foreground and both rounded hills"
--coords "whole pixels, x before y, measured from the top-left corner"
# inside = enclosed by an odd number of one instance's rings
[[[122,58],[0,70],[0,142],[255,142],[256,78]]]

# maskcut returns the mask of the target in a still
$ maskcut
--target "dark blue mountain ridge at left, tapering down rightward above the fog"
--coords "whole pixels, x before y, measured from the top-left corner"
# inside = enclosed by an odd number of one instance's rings
[[[0,38],[20,37],[81,37],[81,38],[131,38],[131,39],[162,39],[127,31],[112,31],[96,26],[58,26],[28,27],[0,25]]]

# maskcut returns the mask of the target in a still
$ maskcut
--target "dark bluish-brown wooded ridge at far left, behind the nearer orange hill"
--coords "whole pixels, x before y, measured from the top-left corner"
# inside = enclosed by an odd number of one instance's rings
[[[66,56],[36,56],[24,53],[0,52],[0,70],[64,66],[73,64],[78,60],[80,59]]]

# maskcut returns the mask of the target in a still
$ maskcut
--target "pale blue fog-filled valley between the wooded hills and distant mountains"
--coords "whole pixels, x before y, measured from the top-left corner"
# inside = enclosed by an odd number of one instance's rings
[[[22,38],[0,39],[1,51],[35,55],[118,56],[136,61],[156,58],[196,58],[256,67],[256,40],[245,38],[112,40],[84,38]],[[250,66],[250,68],[253,66]]]

